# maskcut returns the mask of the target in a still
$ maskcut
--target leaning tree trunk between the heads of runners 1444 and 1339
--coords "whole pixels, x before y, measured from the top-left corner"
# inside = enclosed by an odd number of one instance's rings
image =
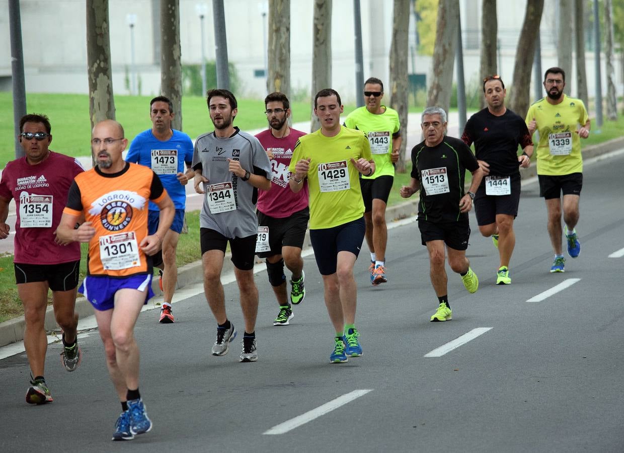
[[[527,11],[522,24],[522,31],[515,53],[514,81],[512,83],[509,108],[524,118],[529,110],[529,90],[531,86],[531,68],[535,55],[535,39],[542,21],[544,0],[527,0]]]

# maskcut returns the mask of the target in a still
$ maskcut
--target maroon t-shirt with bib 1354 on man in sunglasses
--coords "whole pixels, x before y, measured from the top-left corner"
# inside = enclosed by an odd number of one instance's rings
[[[80,172],[84,172],[80,162],[54,151],[36,165],[26,162],[26,157],[6,164],[0,197],[12,198],[16,204],[14,263],[54,265],[80,260],[80,243],[54,242],[69,187]]]

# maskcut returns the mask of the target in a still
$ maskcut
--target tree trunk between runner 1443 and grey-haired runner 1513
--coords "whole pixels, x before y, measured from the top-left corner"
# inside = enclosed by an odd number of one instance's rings
[[[392,44],[390,46],[390,106],[399,113],[401,122],[401,150],[396,171],[405,173],[405,148],[407,146],[407,30],[409,29],[409,1],[394,0],[392,19]]]

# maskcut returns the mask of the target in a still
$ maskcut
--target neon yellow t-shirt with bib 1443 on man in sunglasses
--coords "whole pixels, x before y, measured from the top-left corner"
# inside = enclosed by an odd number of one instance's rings
[[[368,179],[380,176],[394,176],[394,165],[390,153],[392,152],[392,134],[396,134],[401,129],[399,114],[396,110],[382,105],[386,109],[383,114],[371,114],[366,107],[359,107],[353,110],[344,125],[349,129],[363,130],[368,135],[371,145],[371,153],[375,161],[375,173]],[[367,179],[366,176],[362,178]]]

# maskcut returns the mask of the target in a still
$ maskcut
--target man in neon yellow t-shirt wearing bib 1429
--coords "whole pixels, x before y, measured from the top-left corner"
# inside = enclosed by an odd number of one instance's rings
[[[338,92],[328,88],[316,94],[314,114],[321,129],[299,138],[288,167],[293,192],[299,192],[308,178],[310,240],[336,331],[331,363],[362,355],[355,327],[358,287],[353,277],[366,228],[359,173],[375,172],[366,135],[341,126],[342,112]]]

